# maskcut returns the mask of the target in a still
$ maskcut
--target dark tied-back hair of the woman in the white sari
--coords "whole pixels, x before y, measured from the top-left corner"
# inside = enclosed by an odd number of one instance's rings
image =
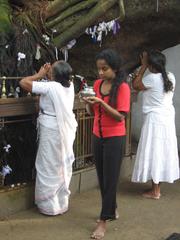
[[[53,80],[62,84],[63,87],[70,86],[71,66],[65,61],[58,61],[53,65]]]

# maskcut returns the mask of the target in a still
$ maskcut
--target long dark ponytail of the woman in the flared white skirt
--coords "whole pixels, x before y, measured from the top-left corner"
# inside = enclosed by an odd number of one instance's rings
[[[173,90],[173,84],[169,80],[166,72],[166,57],[158,50],[150,50],[148,53],[148,64],[157,72],[162,74],[164,82],[164,91],[169,92]]]

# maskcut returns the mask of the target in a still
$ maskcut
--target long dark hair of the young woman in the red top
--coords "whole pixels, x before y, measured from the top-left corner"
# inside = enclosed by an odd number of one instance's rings
[[[109,98],[109,104],[112,106],[116,106],[118,88],[121,85],[121,83],[125,81],[125,73],[123,70],[120,70],[120,67],[122,66],[122,59],[112,49],[106,49],[100,52],[96,56],[96,61],[100,59],[105,60],[106,63],[112,68],[112,70],[116,72],[116,77],[112,83]]]

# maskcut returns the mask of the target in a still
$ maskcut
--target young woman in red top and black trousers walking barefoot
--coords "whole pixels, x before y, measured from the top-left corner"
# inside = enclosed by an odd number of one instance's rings
[[[130,89],[121,60],[111,49],[96,58],[100,79],[94,83],[96,97],[87,97],[87,111],[94,114],[93,152],[102,196],[100,220],[92,238],[101,239],[107,220],[116,219],[116,190],[125,143],[125,116],[130,108]]]

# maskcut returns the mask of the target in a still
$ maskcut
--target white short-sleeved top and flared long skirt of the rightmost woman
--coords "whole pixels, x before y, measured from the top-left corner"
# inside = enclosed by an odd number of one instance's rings
[[[175,88],[175,77],[168,73]],[[173,183],[180,177],[174,91],[164,92],[161,73],[143,78],[143,126],[132,181]]]

